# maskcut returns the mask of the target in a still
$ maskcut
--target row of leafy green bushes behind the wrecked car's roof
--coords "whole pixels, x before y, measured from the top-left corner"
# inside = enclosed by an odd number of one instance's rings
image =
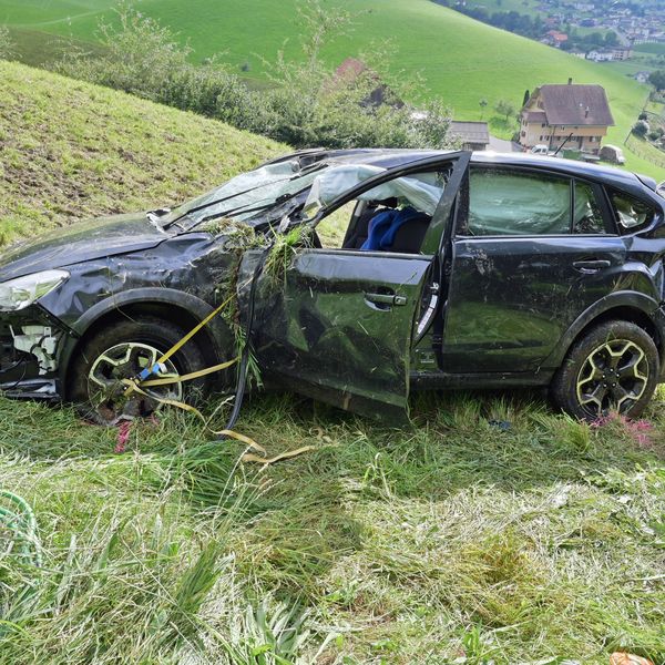
[[[260,92],[215,59],[203,65],[188,61],[191,49],[157,21],[129,6],[119,10],[120,27],[100,25],[106,51],[81,51],[55,63],[66,75],[108,85],[177,109],[216,117],[295,147],[352,146],[448,147],[450,113],[438,102],[424,110],[403,104],[370,69],[339,75],[319,58],[326,37],[348,21],[309,0],[303,17],[311,38],[305,61],[278,54],[269,68],[273,86]],[[380,92],[381,103],[376,94]]]

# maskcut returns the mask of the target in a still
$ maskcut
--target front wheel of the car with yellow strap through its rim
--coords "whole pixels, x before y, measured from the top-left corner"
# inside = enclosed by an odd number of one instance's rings
[[[150,316],[119,321],[98,331],[72,361],[68,398],[83,418],[106,426],[150,416],[160,407],[160,399],[191,403],[205,391],[205,380],[146,387],[147,396],[134,392],[129,397],[122,383],[123,378],[134,378],[142,368],[156,362],[186,332],[180,326]],[[203,369],[205,359],[196,342],[190,340],[164,365],[160,376],[182,376]]]

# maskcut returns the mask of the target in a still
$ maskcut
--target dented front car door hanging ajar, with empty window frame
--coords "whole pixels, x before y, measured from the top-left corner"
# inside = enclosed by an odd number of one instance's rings
[[[269,375],[344,409],[403,417],[413,323],[469,160],[470,153],[438,157],[449,176],[421,253],[303,248],[277,285],[264,272],[254,348]],[[387,180],[437,166],[431,158],[418,164],[366,181],[316,222]]]

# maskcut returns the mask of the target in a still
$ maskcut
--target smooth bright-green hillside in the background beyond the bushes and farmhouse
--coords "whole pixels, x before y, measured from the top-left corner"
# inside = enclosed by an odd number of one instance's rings
[[[103,16],[112,20],[113,0],[2,0],[0,22],[94,39]],[[258,55],[274,58],[286,39],[287,52],[297,52],[297,0],[143,0],[141,10],[181,32],[195,49],[195,58],[224,53],[234,65],[248,62],[250,74],[262,78]],[[522,101],[524,90],[542,83],[600,83],[608,92],[616,127],[608,141],[622,144],[640,113],[647,89],[621,72],[582,61],[531,40],[493,29],[438,6],[430,0],[339,0],[337,6],[358,12],[350,35],[328,48],[337,64],[349,53],[371,53],[377,45],[388,58],[382,63],[395,80],[420,72],[428,88],[449,103],[458,117],[478,119],[479,100]],[[386,45],[388,40],[388,45]],[[499,121],[499,119],[497,119]],[[493,122],[497,133],[507,133]],[[628,154],[628,167],[665,180],[665,171]]]

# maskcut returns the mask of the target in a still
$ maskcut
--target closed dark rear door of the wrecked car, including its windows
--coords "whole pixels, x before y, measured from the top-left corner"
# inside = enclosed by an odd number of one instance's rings
[[[472,167],[446,310],[446,372],[533,372],[617,288],[626,247],[593,182]]]

